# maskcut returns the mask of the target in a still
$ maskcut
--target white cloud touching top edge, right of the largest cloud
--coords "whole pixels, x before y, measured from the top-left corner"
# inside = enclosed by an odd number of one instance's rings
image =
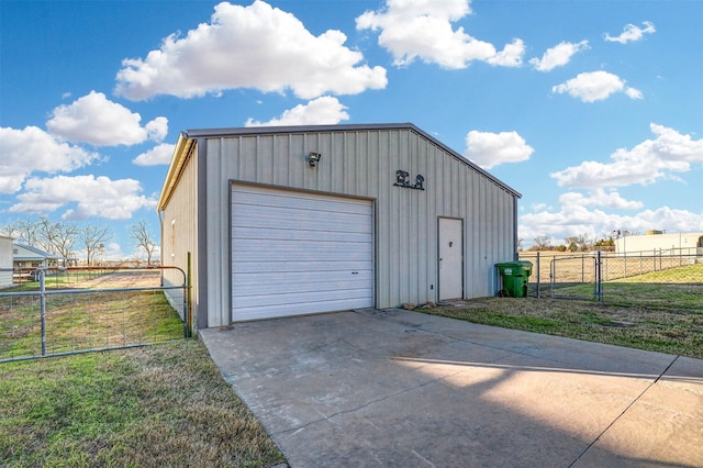
[[[383,10],[358,16],[356,27],[381,30],[378,43],[393,55],[397,66],[410,65],[415,58],[450,69],[466,68],[472,60],[521,66],[525,51],[521,40],[496,52],[492,44],[465,33],[464,27],[453,29],[453,22],[469,13],[469,0],[388,0]]]

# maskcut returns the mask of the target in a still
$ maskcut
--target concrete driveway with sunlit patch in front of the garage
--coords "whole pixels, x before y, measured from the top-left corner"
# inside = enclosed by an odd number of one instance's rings
[[[365,310],[201,336],[292,467],[703,466],[703,360]]]

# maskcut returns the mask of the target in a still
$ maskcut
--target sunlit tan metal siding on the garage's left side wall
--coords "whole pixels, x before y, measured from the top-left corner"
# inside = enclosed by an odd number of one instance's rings
[[[189,157],[183,171],[180,175],[178,185],[174,190],[174,193],[168,201],[167,207],[161,213],[163,226],[161,226],[161,265],[176,266],[187,271],[188,268],[188,252],[191,253],[191,310],[192,310],[192,324],[198,323],[198,305],[200,303],[198,296],[198,275],[196,275],[196,268],[198,265],[198,226],[196,220],[198,219],[198,197],[197,197],[197,145],[193,147],[193,153]],[[171,245],[171,225],[175,227],[175,236]],[[164,285],[165,286],[181,286],[182,275],[172,270],[164,270]],[[171,304],[178,310],[178,313],[183,316],[182,302],[180,301],[181,293],[178,294],[179,300],[171,301]]]

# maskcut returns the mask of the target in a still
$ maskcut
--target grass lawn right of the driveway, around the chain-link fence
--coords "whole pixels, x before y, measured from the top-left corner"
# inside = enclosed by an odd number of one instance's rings
[[[604,301],[484,298],[424,312],[487,325],[703,358],[703,265],[603,285]],[[582,290],[579,290],[581,288]],[[592,286],[573,287],[588,296]]]

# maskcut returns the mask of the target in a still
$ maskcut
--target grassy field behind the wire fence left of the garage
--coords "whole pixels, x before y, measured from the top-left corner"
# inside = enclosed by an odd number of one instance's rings
[[[182,321],[164,291],[156,289],[158,271],[69,279],[63,287],[49,289],[46,297],[47,354],[160,343],[183,336]],[[66,287],[82,292],[60,292]],[[155,289],[104,291],[104,288],[135,287]],[[26,296],[0,297],[0,360],[42,353],[38,296],[30,296],[27,285],[18,291]]]

